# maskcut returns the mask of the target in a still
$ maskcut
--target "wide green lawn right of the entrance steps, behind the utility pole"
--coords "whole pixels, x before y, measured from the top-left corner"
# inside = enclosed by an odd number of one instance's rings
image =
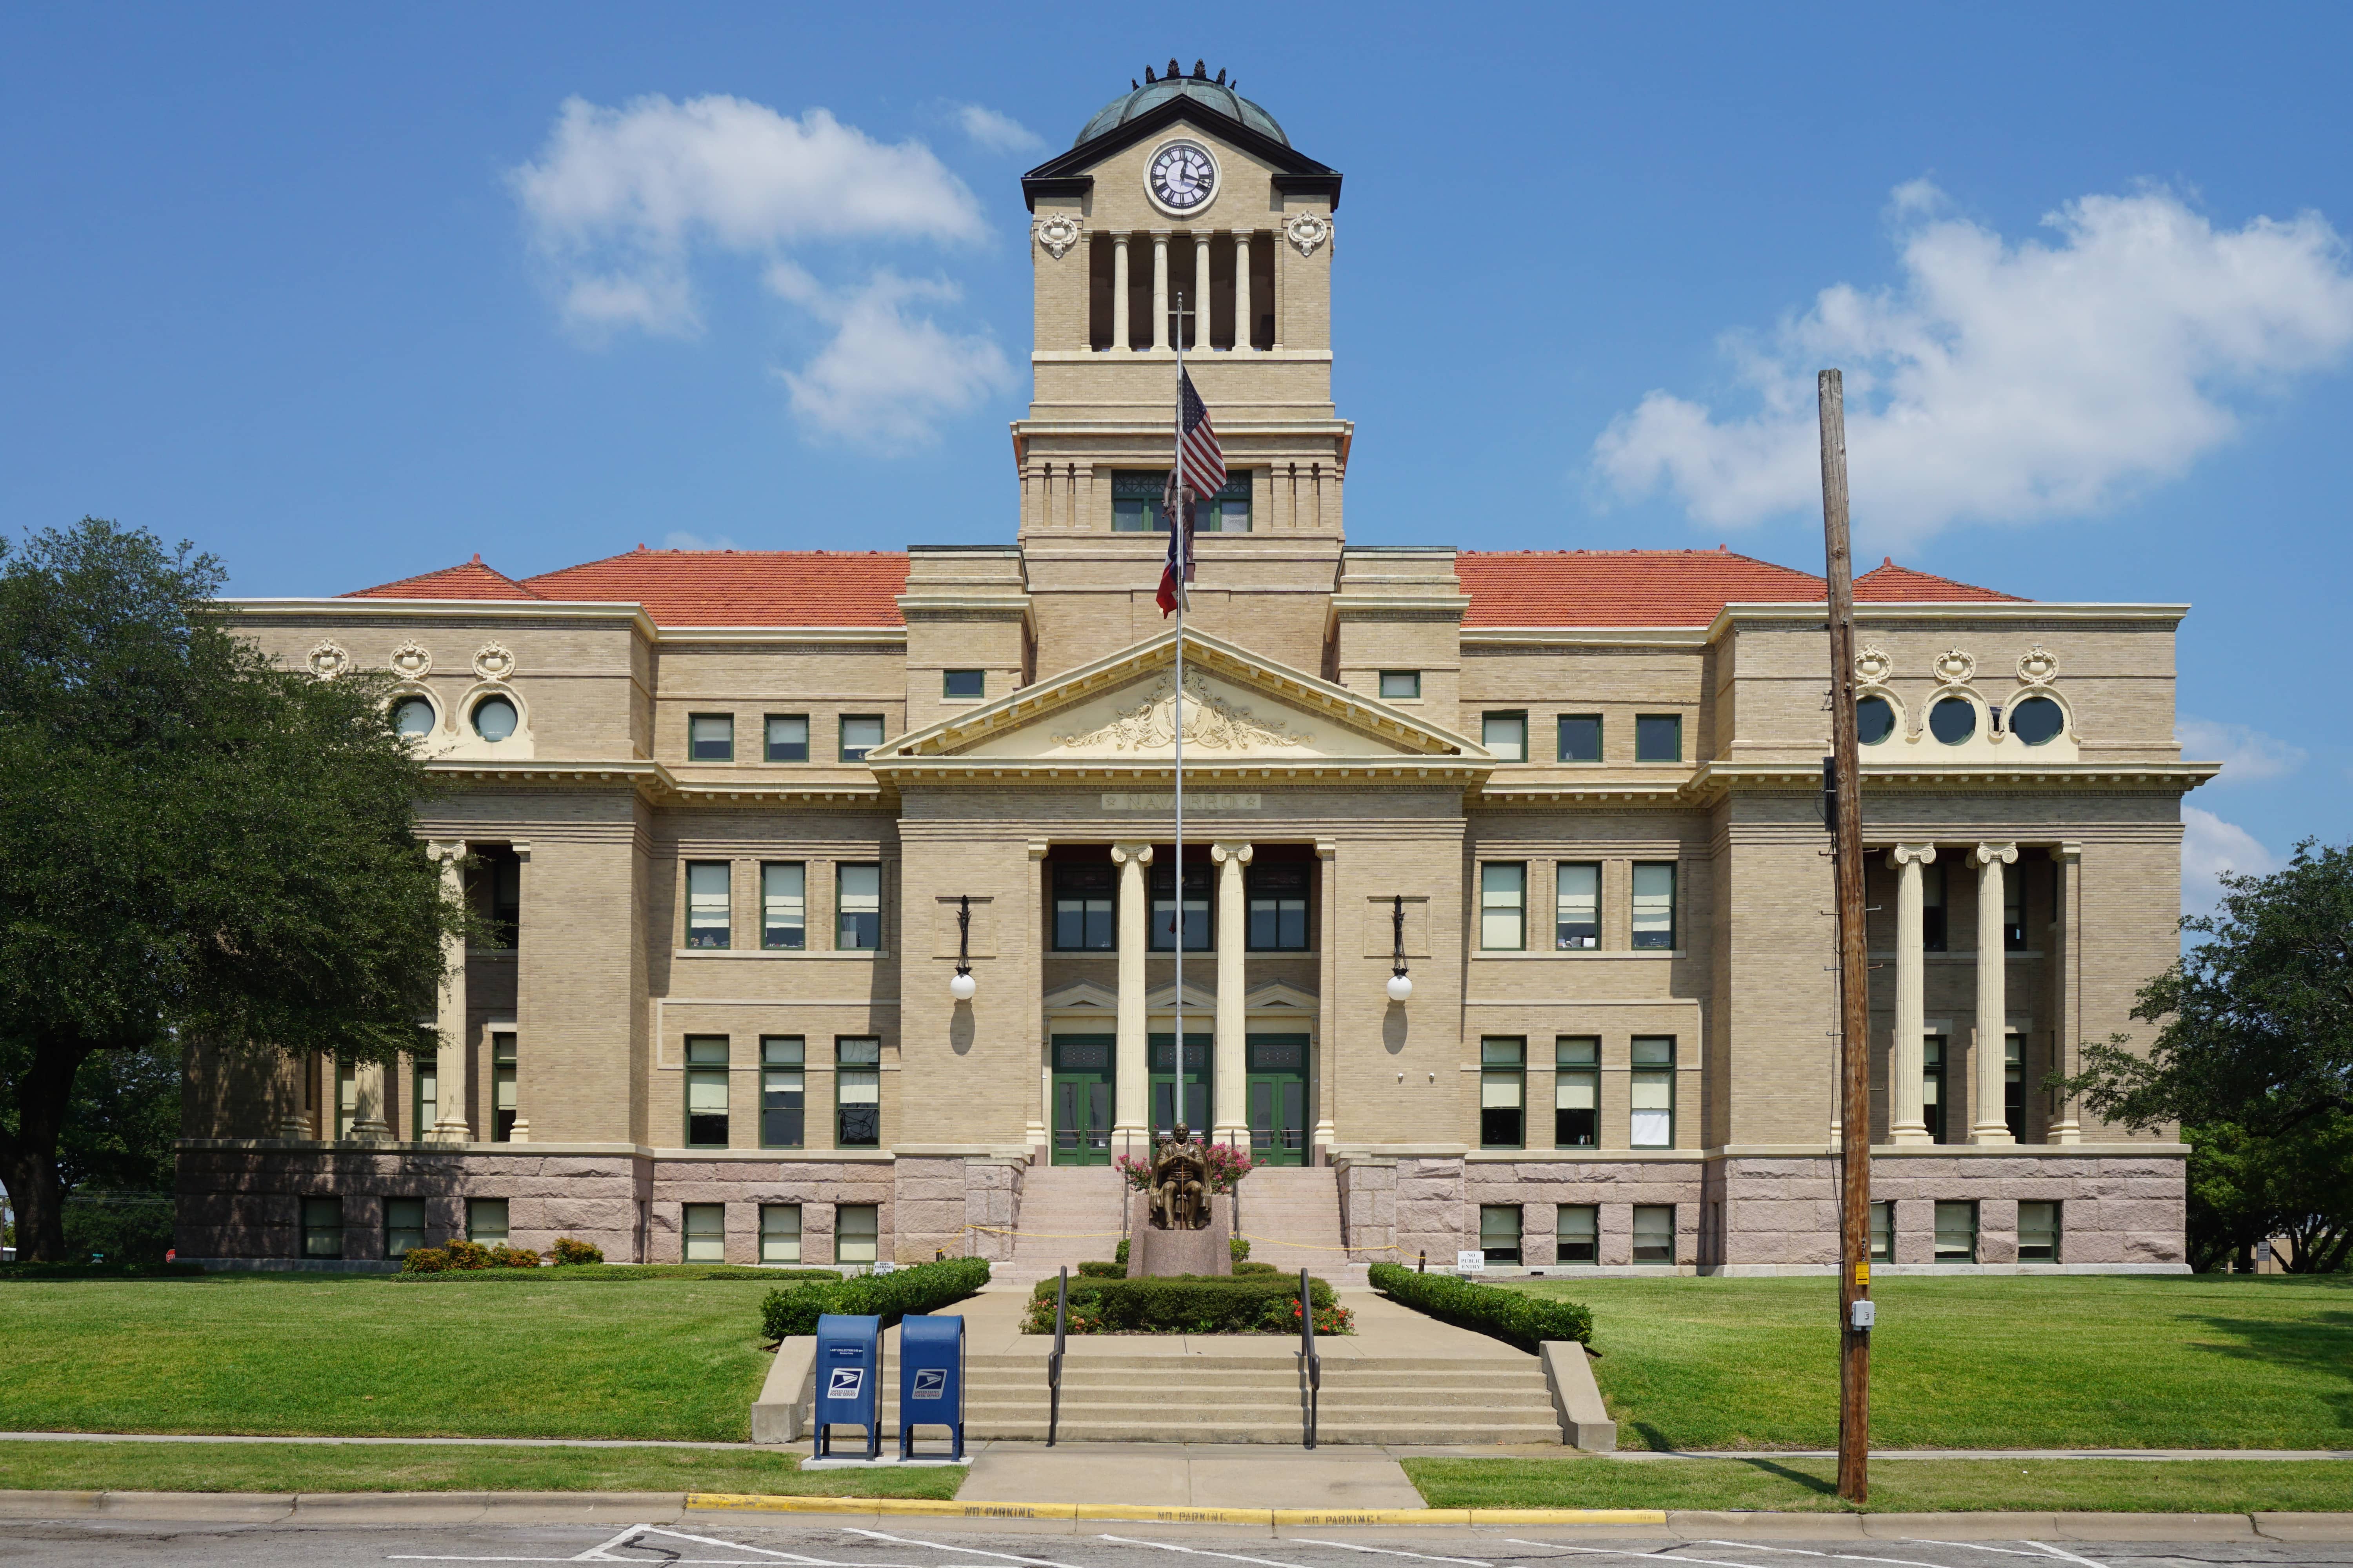
[[[1593,1307],[1621,1448],[1838,1443],[1831,1279],[1522,1288]],[[1875,1448],[2353,1448],[2353,1276],[1899,1276],[1871,1295]]]

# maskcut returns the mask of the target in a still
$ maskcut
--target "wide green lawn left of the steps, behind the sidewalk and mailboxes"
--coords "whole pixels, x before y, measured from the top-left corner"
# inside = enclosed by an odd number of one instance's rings
[[[746,1441],[769,1366],[769,1288],[513,1274],[0,1281],[0,1429]]]

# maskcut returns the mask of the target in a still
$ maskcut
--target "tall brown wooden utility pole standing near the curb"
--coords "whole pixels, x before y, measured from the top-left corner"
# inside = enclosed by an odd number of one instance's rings
[[[1864,780],[1854,738],[1847,390],[1821,371],[1821,536],[1831,578],[1831,853],[1838,872],[1838,1495],[1871,1497],[1871,976]]]

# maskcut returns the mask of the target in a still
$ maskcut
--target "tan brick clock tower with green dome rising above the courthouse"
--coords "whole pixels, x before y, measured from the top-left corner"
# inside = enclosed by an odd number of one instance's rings
[[[1014,465],[1040,675],[1160,628],[1179,339],[1233,475],[1198,522],[1191,618],[1325,665],[1353,435],[1332,407],[1339,186],[1202,61],[1146,68],[1021,179],[1035,334]]]

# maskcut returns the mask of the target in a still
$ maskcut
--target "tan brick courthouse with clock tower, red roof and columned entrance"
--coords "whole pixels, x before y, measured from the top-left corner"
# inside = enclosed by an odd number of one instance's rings
[[[1035,1267],[1186,1119],[1271,1166],[1261,1255],[1835,1260],[1824,581],[1351,545],[1341,176],[1221,80],[1122,94],[1021,190],[993,538],[527,578],[485,541],[240,602],[292,668],[395,672],[419,832],[499,940],[393,1067],[193,1060],[181,1255]],[[1231,468],[1181,691],[1176,296]],[[1897,564],[1857,599],[1880,1258],[2179,1269],[2181,1145],[2042,1084],[2177,950],[2217,771],[2174,741],[2186,607]]]

